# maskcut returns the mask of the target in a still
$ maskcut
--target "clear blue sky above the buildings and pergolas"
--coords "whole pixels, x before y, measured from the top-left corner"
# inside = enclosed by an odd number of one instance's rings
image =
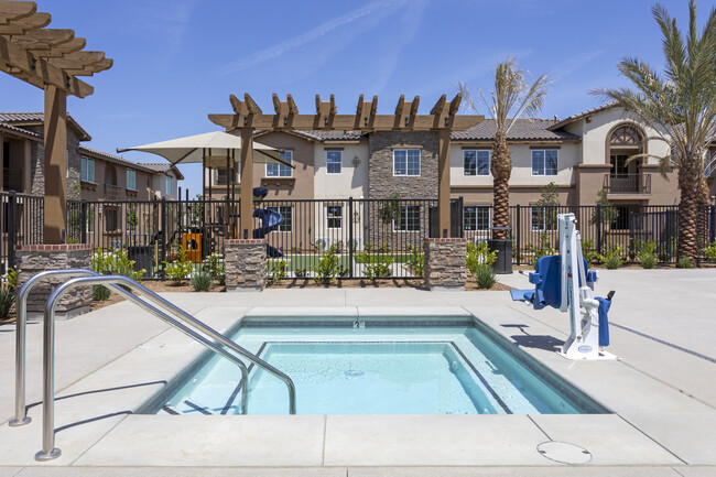
[[[705,19],[716,0],[699,1]],[[293,95],[313,111],[314,95],[334,94],[339,113],[359,94],[378,95],[379,112],[404,94],[426,113],[457,82],[490,89],[495,65],[517,56],[555,80],[544,118],[599,105],[588,91],[623,85],[616,64],[639,56],[661,66],[650,0],[39,1],[52,28],[69,28],[115,66],[87,82],[95,94],[69,98],[69,113],[91,148],[113,152],[216,130],[208,113],[231,112],[229,94],[249,93],[264,111],[271,94]],[[662,1],[685,25],[686,0]],[[0,75],[0,110],[41,111],[42,91]],[[485,111],[482,111],[485,112]],[[131,152],[124,158],[160,162]],[[192,196],[200,166],[181,167]]]

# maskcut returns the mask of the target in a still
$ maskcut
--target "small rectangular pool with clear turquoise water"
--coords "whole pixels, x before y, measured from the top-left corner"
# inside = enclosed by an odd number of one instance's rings
[[[606,413],[476,318],[245,318],[231,338],[291,377],[299,414]],[[149,413],[238,414],[240,373],[205,355]],[[249,367],[248,414],[285,414],[283,382]]]

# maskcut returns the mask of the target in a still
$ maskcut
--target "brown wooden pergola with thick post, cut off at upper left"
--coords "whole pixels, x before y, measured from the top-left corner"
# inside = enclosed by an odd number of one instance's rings
[[[0,1],[0,69],[45,91],[44,242],[62,243],[67,228],[67,95],[84,98],[94,88],[78,79],[108,69],[104,52],[83,51],[73,30],[47,29],[50,13],[32,1]]]

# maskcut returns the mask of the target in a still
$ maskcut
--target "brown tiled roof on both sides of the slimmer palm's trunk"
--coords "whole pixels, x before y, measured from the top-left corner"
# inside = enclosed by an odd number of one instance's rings
[[[508,141],[578,141],[577,134],[566,131],[553,131],[551,119],[523,119],[516,121],[507,134]],[[495,119],[486,119],[465,131],[453,131],[454,141],[492,141],[495,140]]]

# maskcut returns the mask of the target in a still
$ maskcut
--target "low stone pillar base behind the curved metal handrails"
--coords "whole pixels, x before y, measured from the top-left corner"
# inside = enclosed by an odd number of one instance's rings
[[[17,290],[35,273],[45,270],[91,269],[91,243],[28,245],[15,247]],[[37,282],[28,296],[28,319],[42,319],[50,293],[67,279]],[[55,308],[58,319],[89,312],[91,286],[67,292]]]

